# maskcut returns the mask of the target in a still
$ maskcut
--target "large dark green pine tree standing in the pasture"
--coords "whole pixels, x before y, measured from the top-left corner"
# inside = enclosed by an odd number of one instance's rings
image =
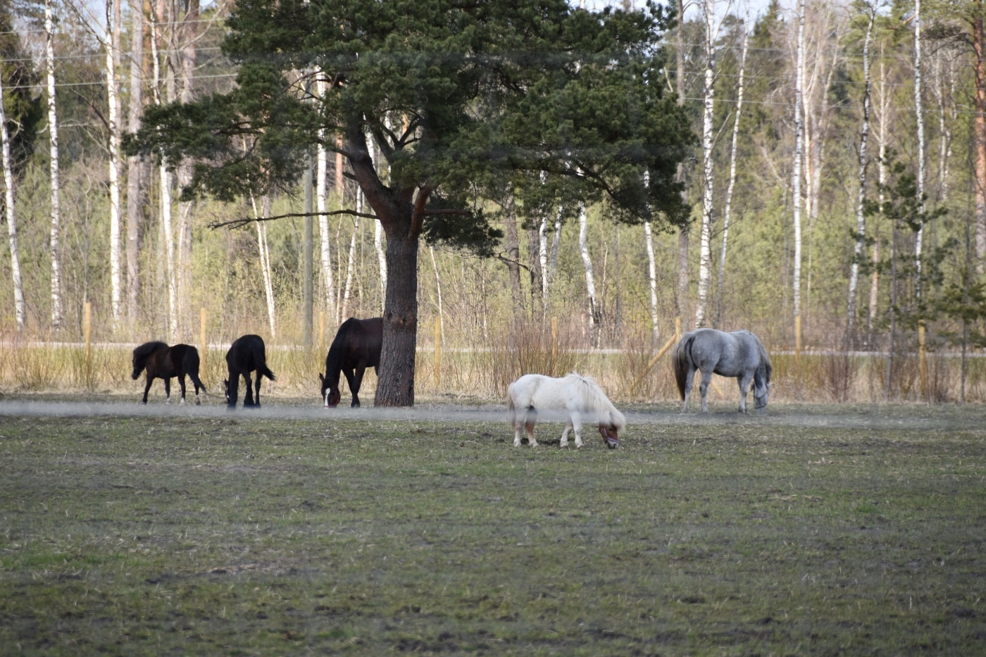
[[[694,137],[662,92],[668,22],[652,4],[242,0],[224,44],[237,89],[149,108],[129,149],[190,158],[184,197],[232,200],[297,183],[324,134],[387,233],[376,402],[410,405],[422,237],[490,253],[500,233],[481,201],[505,188],[528,207],[605,202],[626,222],[685,220],[674,173]],[[331,83],[321,98],[305,92],[314,71]]]

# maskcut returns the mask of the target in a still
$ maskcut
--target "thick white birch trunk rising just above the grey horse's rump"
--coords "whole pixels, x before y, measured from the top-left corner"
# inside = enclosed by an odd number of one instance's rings
[[[706,324],[709,304],[709,283],[712,280],[712,192],[715,175],[712,161],[712,119],[715,107],[716,26],[715,0],[702,5],[705,19],[705,96],[702,111],[702,236],[698,256],[698,304],[695,307],[695,327]]]

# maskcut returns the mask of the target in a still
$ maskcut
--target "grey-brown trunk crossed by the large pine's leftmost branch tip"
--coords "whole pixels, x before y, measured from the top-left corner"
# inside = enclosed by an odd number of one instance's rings
[[[127,129],[136,132],[140,128],[143,112],[144,76],[144,8],[141,0],[130,0],[130,14],[133,17],[130,34],[130,106]],[[127,158],[126,190],[126,299],[127,317],[130,322],[137,319],[138,298],[140,295],[140,207],[141,177],[143,158]]]

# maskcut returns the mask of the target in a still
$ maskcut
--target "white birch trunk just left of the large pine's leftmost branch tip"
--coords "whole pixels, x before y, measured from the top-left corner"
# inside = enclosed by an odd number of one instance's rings
[[[106,2],[106,98],[109,104],[109,281],[113,326],[120,318],[122,267],[120,260],[120,133],[119,90],[116,69],[119,61],[120,0]]]

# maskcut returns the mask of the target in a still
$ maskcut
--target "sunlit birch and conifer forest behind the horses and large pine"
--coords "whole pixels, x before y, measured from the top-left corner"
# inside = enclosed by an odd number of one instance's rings
[[[380,315],[379,222],[317,219],[311,342],[304,220],[214,228],[307,202],[363,212],[341,160],[311,155],[308,201],[300,185],[178,202],[187,165],[121,151],[145,106],[231,88],[229,11],[0,5],[0,385],[128,390],[135,342],[219,353],[256,332],[280,390],[315,390],[339,323]],[[775,400],[986,398],[984,3],[678,11],[663,74],[698,137],[680,173],[690,229],[620,224],[602,206],[560,224],[512,207],[494,257],[423,246],[419,392],[490,398],[523,372],[578,368],[617,399],[667,401],[668,356],[655,356],[677,330],[709,326],[761,337]],[[212,382],[220,364],[206,359]],[[732,391],[715,393],[732,403]]]

